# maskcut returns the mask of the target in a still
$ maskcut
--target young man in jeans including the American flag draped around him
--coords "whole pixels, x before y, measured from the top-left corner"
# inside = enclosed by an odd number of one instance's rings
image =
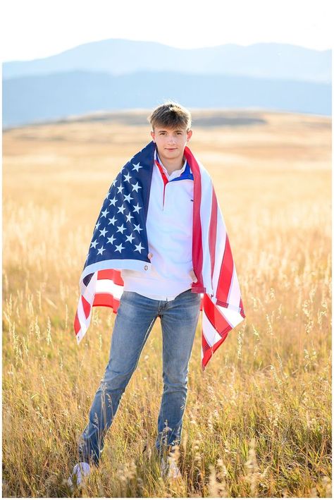
[[[109,362],[78,445],[80,462],[72,475],[77,482],[89,473],[90,465],[99,465],[105,434],[157,317],[161,319],[163,336],[163,394],[155,445],[162,473],[178,477],[177,466],[172,461],[166,467],[164,458],[166,451],[180,444],[201,293],[204,299],[207,297],[204,310],[206,305],[208,318],[212,307],[229,307],[230,315],[234,315],[228,321],[224,317],[225,323],[222,319],[216,330],[213,321],[208,321],[209,333],[202,344],[204,365],[237,324],[235,315],[240,316],[238,322],[244,317],[211,179],[186,148],[192,137],[190,112],[180,104],[166,102],[154,109],[149,122],[152,142],[125,164],[113,182],[82,274],[82,296],[75,317],[78,342],[87,330],[93,305],[110,305],[117,315]],[[206,216],[211,207],[213,215]],[[216,238],[221,238],[228,250],[220,248]],[[219,257],[222,251],[228,260],[225,267]],[[224,269],[225,276],[226,269],[230,270],[228,291],[219,285]],[[101,283],[106,279],[112,283],[110,303],[106,302],[106,293],[97,299],[99,279]],[[210,296],[215,297],[215,303],[211,303]]]

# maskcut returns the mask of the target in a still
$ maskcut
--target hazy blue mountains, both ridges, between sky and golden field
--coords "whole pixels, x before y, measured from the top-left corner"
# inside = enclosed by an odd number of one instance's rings
[[[331,51],[287,44],[175,49],[109,39],[3,64],[3,126],[151,108],[262,108],[331,114]]]

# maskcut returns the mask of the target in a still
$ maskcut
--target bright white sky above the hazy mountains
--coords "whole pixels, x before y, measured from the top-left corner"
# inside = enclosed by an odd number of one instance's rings
[[[259,42],[333,46],[332,0],[4,0],[1,61],[123,38],[190,49]]]

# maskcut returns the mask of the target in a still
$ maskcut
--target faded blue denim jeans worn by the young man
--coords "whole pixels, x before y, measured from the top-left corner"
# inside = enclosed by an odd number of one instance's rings
[[[155,446],[161,453],[180,444],[188,364],[200,302],[201,295],[191,289],[174,300],[153,300],[139,293],[123,292],[113,327],[109,362],[94,396],[88,425],[79,439],[80,461],[99,465],[105,434],[158,316],[163,335],[163,394]]]

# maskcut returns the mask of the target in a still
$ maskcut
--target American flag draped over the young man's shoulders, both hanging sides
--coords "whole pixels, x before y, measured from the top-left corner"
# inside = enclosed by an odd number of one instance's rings
[[[80,276],[80,298],[74,329],[78,343],[85,335],[92,307],[117,313],[123,293],[121,269],[150,272],[146,231],[149,191],[156,145],[149,142],[120,170],[107,193],[94,227]],[[245,318],[237,272],[214,185],[189,147],[184,151],[194,178],[192,264],[202,294],[202,370],[228,332]]]

